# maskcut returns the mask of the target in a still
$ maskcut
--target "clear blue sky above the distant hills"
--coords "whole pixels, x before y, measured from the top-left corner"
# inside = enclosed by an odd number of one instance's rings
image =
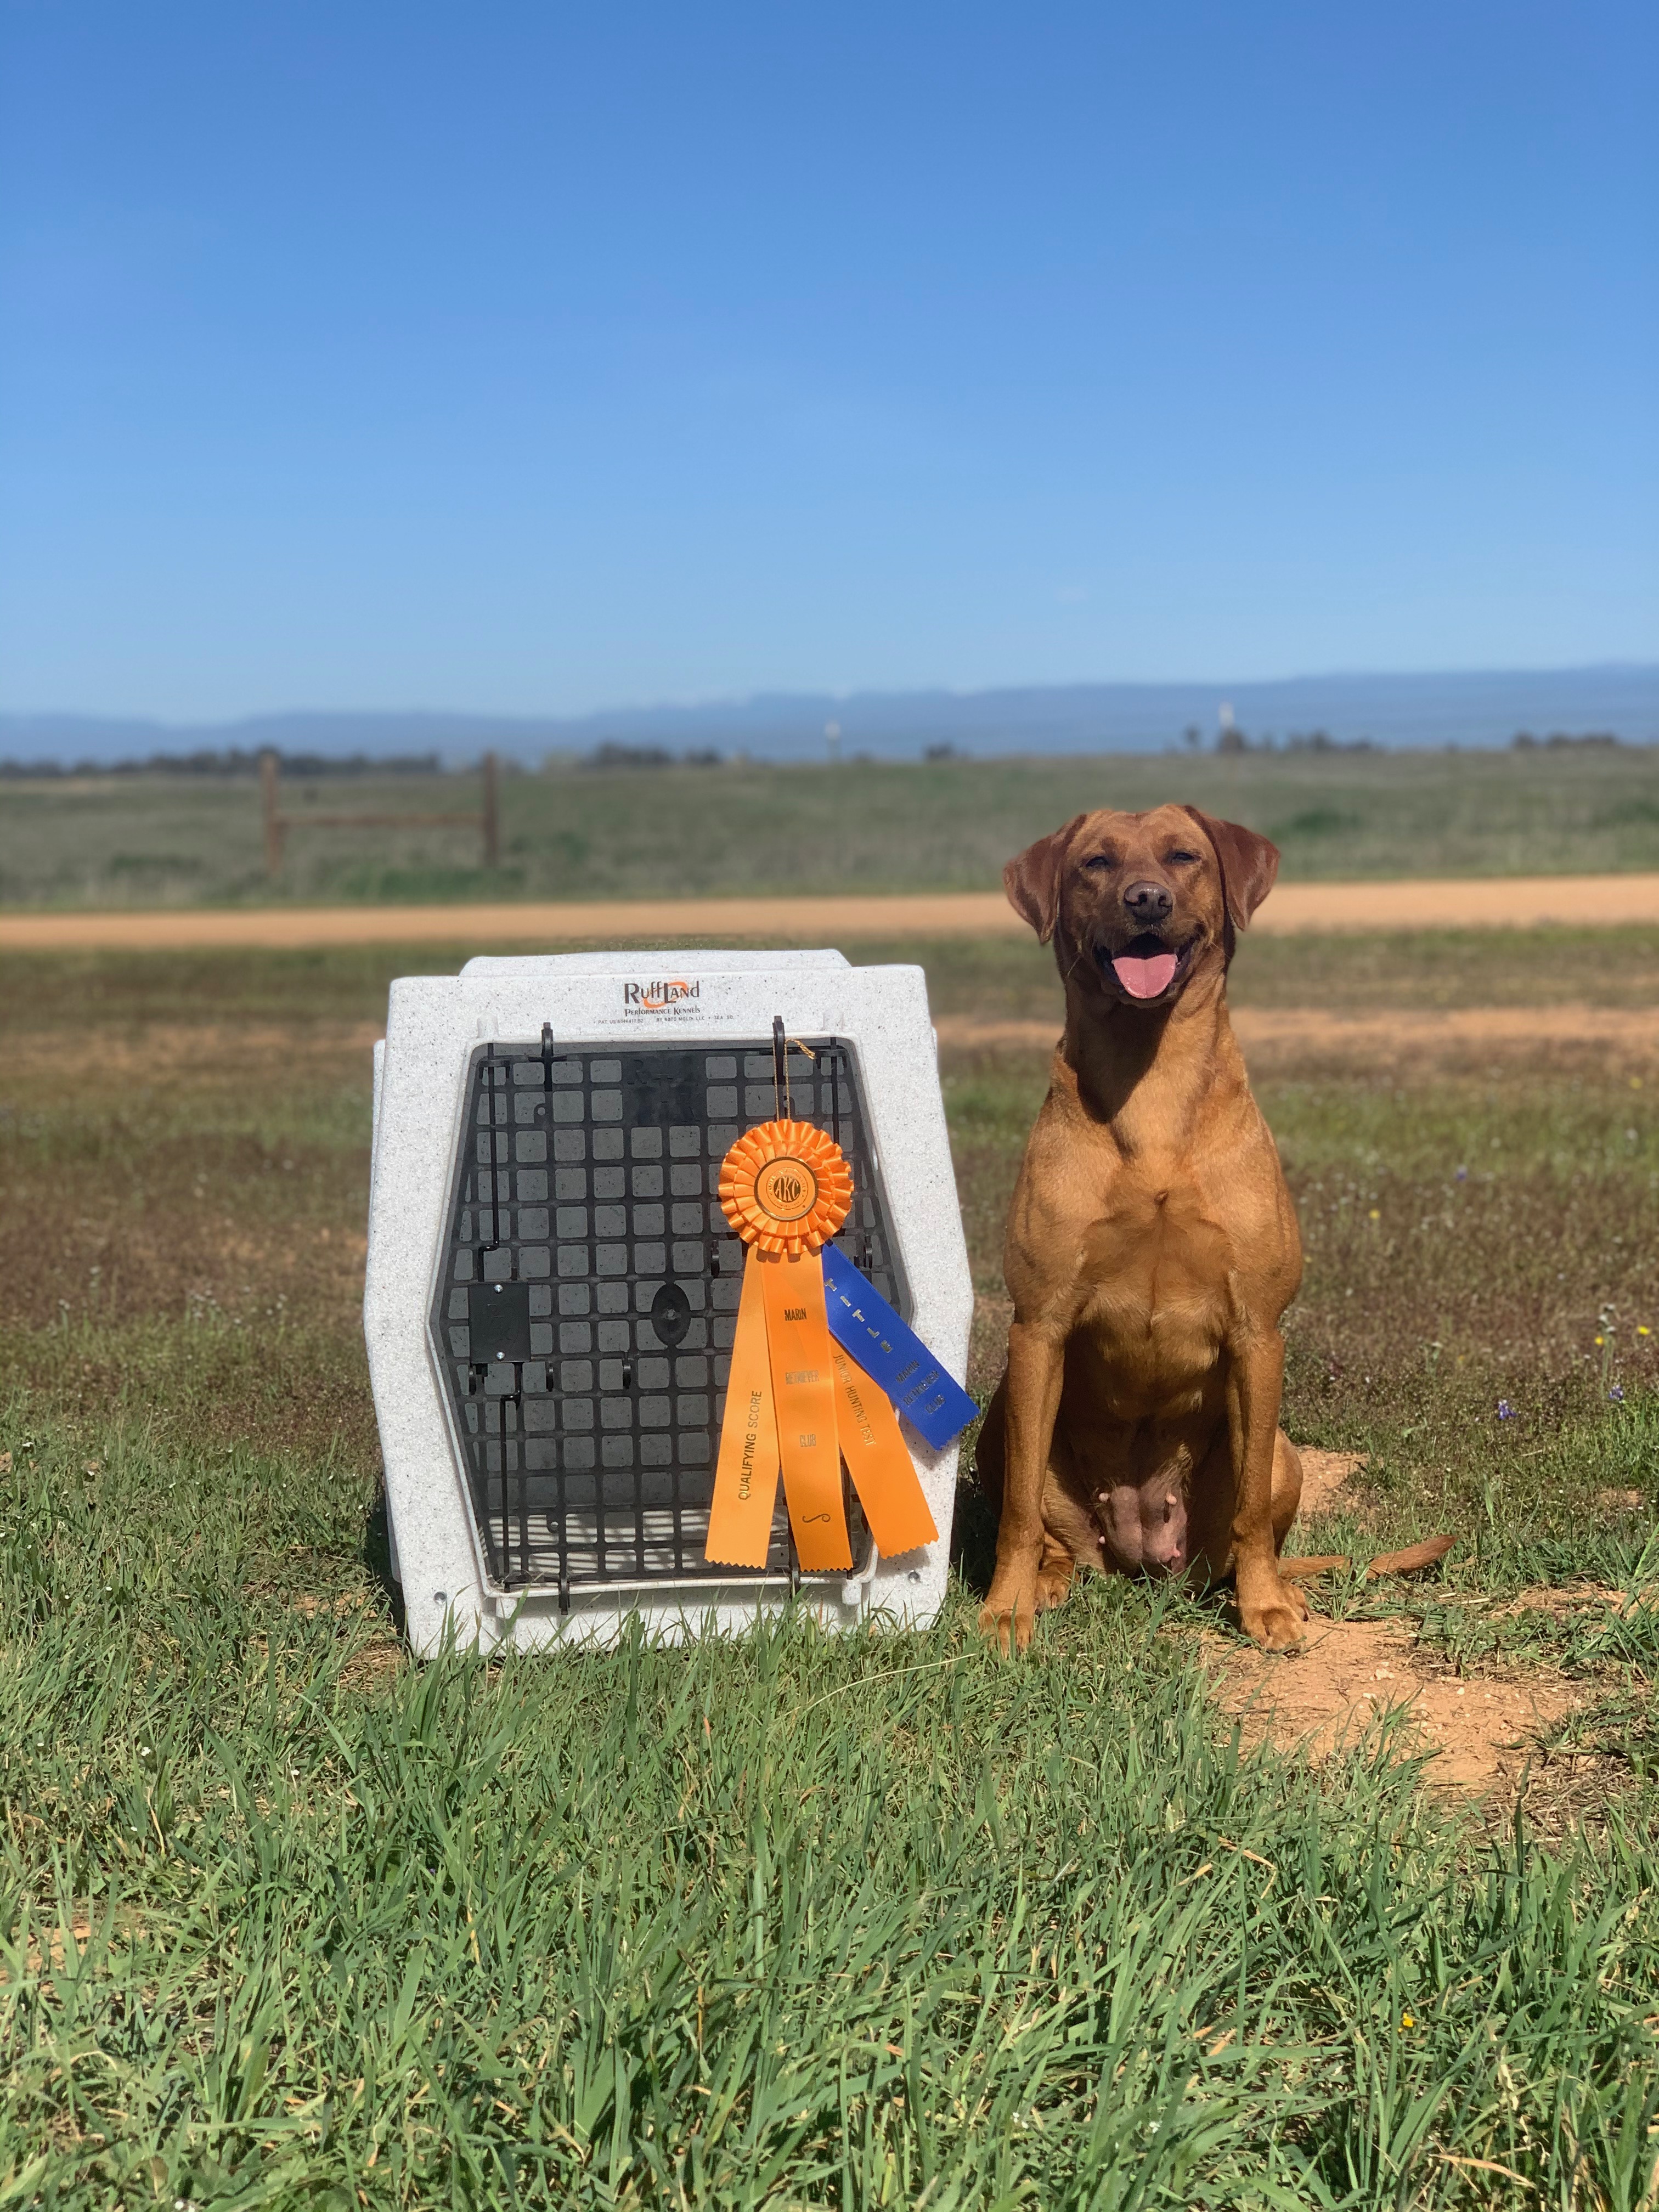
[[[0,706],[1659,659],[1652,0],[0,0]]]

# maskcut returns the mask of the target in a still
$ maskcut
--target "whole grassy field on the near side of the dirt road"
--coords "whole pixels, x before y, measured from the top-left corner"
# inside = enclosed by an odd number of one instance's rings
[[[918,956],[984,1394],[1044,1084],[993,1024],[1055,991],[1015,940]],[[1287,1422],[1367,1460],[1296,1542],[1458,1535],[1316,1606],[1447,1697],[1548,1692],[1484,1796],[1398,1721],[1234,1723],[1248,1655],[1179,1595],[1093,1582],[993,1661],[971,1489],[927,1635],[411,1666],[358,1336],[409,964],[453,962],[0,975],[0,2203],[1652,2205],[1655,1026],[1343,1020],[1639,1015],[1659,933],[1237,964],[1332,1024],[1254,1062]]]

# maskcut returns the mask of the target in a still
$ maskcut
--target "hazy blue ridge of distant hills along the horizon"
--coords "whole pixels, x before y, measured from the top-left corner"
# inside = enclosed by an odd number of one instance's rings
[[[1270,684],[1055,684],[982,692],[774,692],[706,706],[608,708],[577,717],[451,712],[296,712],[228,723],[122,721],[95,714],[0,714],[0,759],[111,763],[155,752],[429,754],[520,761],[599,745],[668,752],[748,752],[821,761],[825,726],[843,757],[914,757],[929,745],[971,754],[1161,752],[1188,728],[1208,748],[1223,710],[1252,741],[1323,730],[1338,743],[1387,748],[1506,745],[1515,732],[1606,730],[1659,743],[1659,664],[1469,670],[1455,675],[1332,675]]]

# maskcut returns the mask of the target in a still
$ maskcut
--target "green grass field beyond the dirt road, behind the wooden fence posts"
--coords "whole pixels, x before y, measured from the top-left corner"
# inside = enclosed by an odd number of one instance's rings
[[[504,779],[495,872],[469,830],[299,827],[274,889],[252,779],[86,776],[0,783],[0,905],[995,889],[1055,823],[1166,799],[1265,830],[1287,880],[1659,867],[1659,748],[557,770]],[[476,776],[283,799],[301,823],[476,803]]]

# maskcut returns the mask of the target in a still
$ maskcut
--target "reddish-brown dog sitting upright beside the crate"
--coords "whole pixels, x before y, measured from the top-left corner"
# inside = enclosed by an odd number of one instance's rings
[[[1225,1002],[1276,874],[1265,836],[1175,805],[1079,814],[1002,872],[1066,987],[978,1449],[1000,1504],[980,1626],[1004,1650],[1077,1564],[1232,1575],[1256,1641],[1301,1641],[1279,1566],[1303,1480],[1279,1427],[1301,1237]]]

